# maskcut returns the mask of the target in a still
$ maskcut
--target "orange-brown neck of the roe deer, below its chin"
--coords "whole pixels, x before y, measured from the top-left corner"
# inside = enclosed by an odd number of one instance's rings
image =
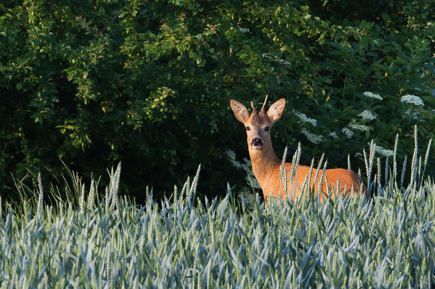
[[[263,181],[271,173],[277,165],[281,164],[281,160],[276,156],[272,142],[269,140],[268,144],[264,145],[261,149],[254,149],[249,147],[249,156],[251,157],[252,171],[260,186],[263,188]]]

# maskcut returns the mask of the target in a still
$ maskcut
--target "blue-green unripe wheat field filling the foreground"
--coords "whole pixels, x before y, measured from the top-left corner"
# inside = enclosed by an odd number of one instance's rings
[[[395,162],[382,186],[376,176],[385,169],[378,163],[375,174],[372,149],[369,200],[320,202],[307,187],[298,200],[265,205],[257,195],[236,204],[228,185],[224,199],[201,202],[198,168],[169,199],[157,203],[147,190],[139,205],[118,196],[119,165],[105,193],[70,172],[69,197],[47,204],[39,177],[38,192],[17,185],[20,194],[35,194],[29,202],[17,210],[2,205],[0,287],[431,288],[435,184],[424,177],[428,153],[414,154],[407,187]]]

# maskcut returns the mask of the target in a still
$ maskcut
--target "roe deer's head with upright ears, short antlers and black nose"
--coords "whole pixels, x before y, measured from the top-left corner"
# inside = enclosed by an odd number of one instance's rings
[[[264,99],[264,104],[261,107],[260,112],[254,108],[251,102],[252,113],[249,114],[248,109],[240,102],[231,99],[230,106],[234,112],[234,116],[238,121],[242,122],[246,127],[246,133],[248,135],[248,147],[249,151],[261,150],[263,151],[269,145],[271,145],[270,129],[274,122],[281,118],[282,112],[285,108],[285,99],[280,99],[275,102],[269,108],[268,112],[264,112],[264,105],[267,102]]]

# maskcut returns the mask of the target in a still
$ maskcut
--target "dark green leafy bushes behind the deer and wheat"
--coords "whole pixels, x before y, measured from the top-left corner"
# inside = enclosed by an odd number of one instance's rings
[[[86,177],[105,176],[122,160],[121,183],[141,200],[146,185],[171,191],[202,163],[199,191],[222,194],[224,180],[244,178],[224,151],[247,156],[228,102],[258,105],[266,94],[288,100],[272,128],[278,155],[300,140],[301,163],[325,152],[330,167],[347,167],[351,154],[358,170],[364,164],[355,154],[371,139],[392,149],[399,133],[403,160],[415,124],[420,143],[435,130],[433,2],[381,3],[390,7],[384,14],[374,1],[363,12],[344,1],[323,8],[314,1],[7,2],[0,6],[2,184],[11,186],[10,172],[33,184],[39,170],[59,177],[59,158]],[[408,94],[425,106],[401,102]],[[377,118],[361,120],[364,110]],[[356,136],[346,138],[343,128]]]

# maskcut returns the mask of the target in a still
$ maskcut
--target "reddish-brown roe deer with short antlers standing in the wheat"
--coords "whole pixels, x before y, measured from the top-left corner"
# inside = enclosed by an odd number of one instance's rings
[[[272,195],[273,197],[285,199],[287,192],[284,191],[284,185],[280,179],[281,160],[276,156],[274,149],[272,148],[270,135],[270,128],[274,122],[281,118],[281,115],[284,112],[285,99],[280,99],[271,105],[267,113],[264,112],[264,105],[266,105],[266,101],[267,96],[260,112],[257,112],[251,102],[251,114],[249,114],[244,105],[235,101],[234,99],[231,99],[230,106],[234,112],[234,116],[246,127],[246,133],[248,134],[249,156],[251,157],[252,162],[252,171],[254,172],[255,178],[260,184],[261,189],[263,190],[264,198],[267,199],[267,197]],[[292,165],[290,163],[285,163],[285,169],[287,171],[287,184],[289,187],[293,188],[290,192],[291,197],[297,198],[301,194],[301,188],[303,186],[305,176],[307,176],[310,172],[310,167],[302,165],[298,166],[296,175],[293,177],[292,184],[290,184],[291,166]],[[311,177],[310,187],[313,187],[314,185],[314,175],[316,174],[316,171],[316,169],[313,169],[312,171],[313,176]],[[339,179],[339,193],[341,195],[351,193],[352,189],[354,194],[358,194],[360,187],[362,186],[362,191],[365,194],[365,197],[368,197],[367,187],[354,171],[345,169],[328,169],[325,170],[325,178],[327,178],[328,182],[322,182],[320,180],[321,177],[318,178],[318,182],[321,184],[321,192],[326,193],[326,186],[329,184],[329,189],[332,194],[332,185],[334,185],[336,188],[337,180]],[[317,186],[318,183],[315,186],[315,192],[317,191]],[[287,187],[287,185],[285,187]]]

